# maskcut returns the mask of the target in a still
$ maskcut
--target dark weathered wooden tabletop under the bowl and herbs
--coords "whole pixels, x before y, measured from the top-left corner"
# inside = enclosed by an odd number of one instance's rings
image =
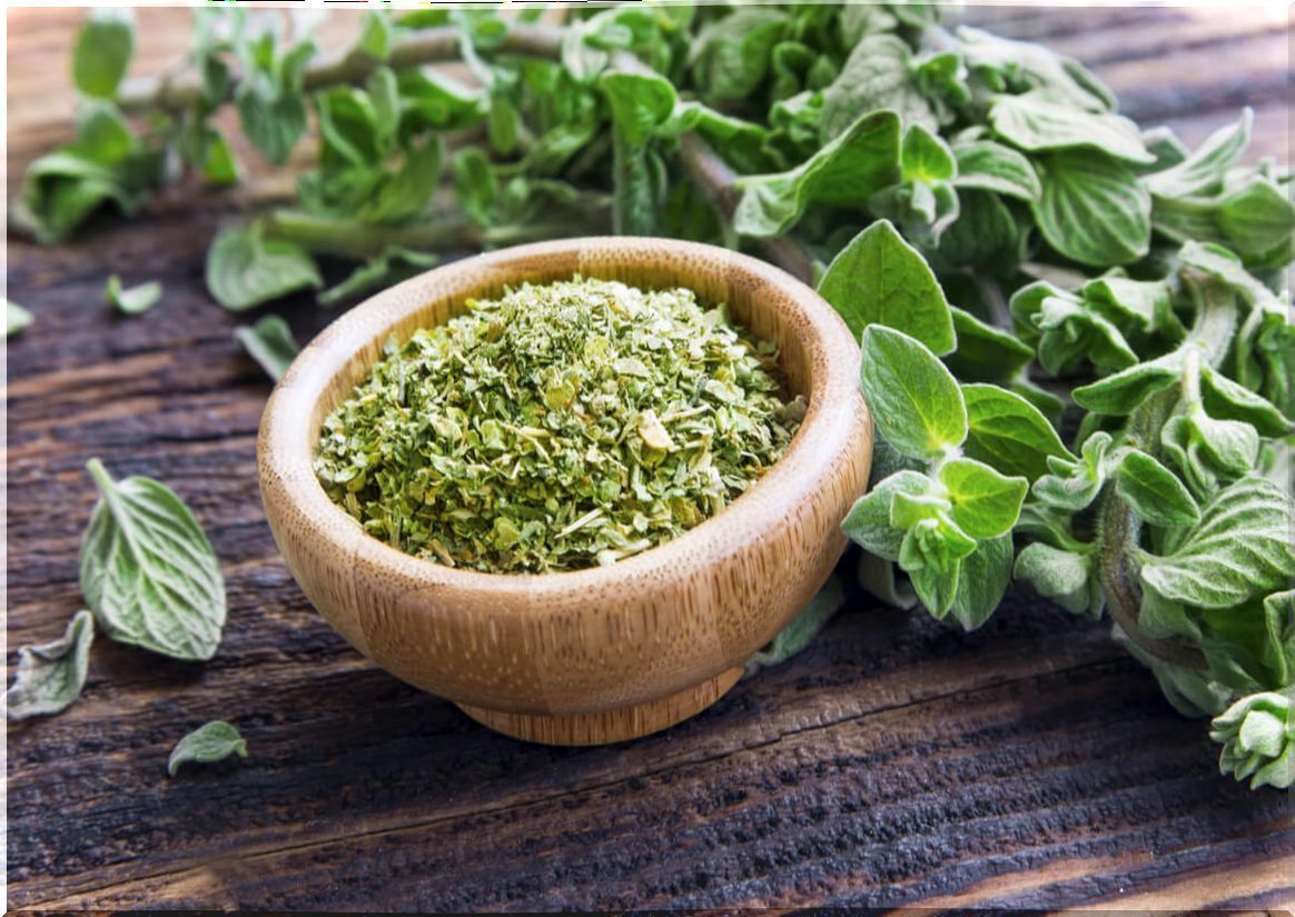
[[[1093,62],[1129,114],[1193,141],[1251,103],[1256,151],[1287,155],[1285,10],[971,18]],[[74,21],[9,13],[10,93],[39,96],[10,98],[10,169],[13,119],[60,116],[58,58],[23,48]],[[10,675],[80,607],[91,455],[185,497],[229,583],[211,662],[100,640],[75,706],[10,726],[10,907],[1295,904],[1289,795],[1219,776],[1204,724],[1105,626],[1023,592],[973,635],[856,598],[793,662],[609,748],[510,741],[377,670],[304,601],[260,511],[268,385],[202,288],[227,210],[172,195],[73,246],[9,244],[9,295],[36,314],[8,345]],[[111,317],[109,272],[162,279],[164,301]],[[285,314],[303,339],[330,318]],[[167,780],[174,741],[218,717],[251,757]]]

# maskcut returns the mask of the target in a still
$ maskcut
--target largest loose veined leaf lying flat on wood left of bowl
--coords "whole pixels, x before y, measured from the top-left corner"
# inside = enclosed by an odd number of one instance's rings
[[[225,623],[220,564],[189,507],[148,477],[114,481],[96,458],[100,491],[80,551],[80,586],[100,629],[177,660],[210,660]]]

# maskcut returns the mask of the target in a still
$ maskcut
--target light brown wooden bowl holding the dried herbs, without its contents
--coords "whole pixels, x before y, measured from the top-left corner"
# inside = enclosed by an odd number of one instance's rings
[[[534,576],[452,569],[366,534],[312,469],[324,418],[392,332],[447,321],[467,297],[572,274],[685,286],[777,341],[809,409],[783,457],[721,513],[610,566]],[[588,745],[644,736],[714,704],[742,662],[804,608],[844,550],[873,429],[859,347],[813,290],[692,242],[591,238],[455,261],[373,296],[302,351],[260,424],[265,516],[315,607],[379,666],[500,732]]]

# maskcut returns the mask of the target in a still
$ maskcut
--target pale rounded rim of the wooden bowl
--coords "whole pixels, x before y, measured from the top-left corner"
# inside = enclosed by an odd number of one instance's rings
[[[613,255],[629,251],[640,255],[666,252],[677,259],[680,265],[689,256],[704,255],[706,266],[698,272],[701,275],[719,277],[726,273],[732,277],[736,272],[771,285],[802,313],[805,319],[803,327],[809,331],[808,336],[802,338],[802,347],[805,348],[807,366],[813,367],[812,371],[807,370],[804,394],[808,409],[786,451],[763,477],[721,512],[676,538],[615,564],[546,573],[490,573],[416,557],[365,532],[359,520],[328,497],[315,475],[310,444],[317,440],[317,431],[310,429],[310,419],[333,379],[346,371],[360,351],[377,341],[381,354],[381,341],[412,313],[426,309],[434,299],[409,294],[426,287],[431,283],[429,278],[434,275],[451,283],[457,279],[458,283],[470,286],[474,275],[490,268],[552,255],[575,256],[579,264],[576,270],[596,277],[600,264],[589,265],[593,273],[587,273],[580,255],[606,255],[609,250]],[[456,274],[460,277],[456,278]],[[681,282],[680,286],[689,283]],[[457,294],[466,295],[469,294]],[[505,599],[534,599],[545,594],[592,590],[606,586],[613,579],[648,582],[664,568],[679,568],[681,564],[697,566],[698,563],[730,559],[742,551],[743,542],[752,532],[765,530],[767,521],[781,517],[791,503],[815,493],[817,484],[831,472],[838,457],[848,451],[846,437],[851,432],[857,433],[857,420],[846,416],[846,413],[862,411],[864,427],[866,431],[872,429],[870,416],[859,391],[860,360],[859,344],[844,321],[812,287],[780,268],[741,252],[659,237],[579,237],[512,246],[438,265],[387,287],[339,316],[302,348],[276,384],[262,414],[258,479],[264,502],[267,477],[273,476],[282,498],[300,511],[299,516],[310,529],[307,538],[320,538],[343,547],[352,563],[363,563],[383,576],[412,583],[418,590],[452,588],[490,592]],[[755,494],[768,499],[749,499]],[[354,534],[343,542],[338,537],[339,532]],[[500,605],[505,607],[508,603]]]

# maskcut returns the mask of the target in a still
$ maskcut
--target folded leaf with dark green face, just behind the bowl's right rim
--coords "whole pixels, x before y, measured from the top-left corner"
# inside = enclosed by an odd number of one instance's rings
[[[899,116],[874,111],[789,172],[738,178],[742,198],[733,229],[743,235],[780,235],[812,203],[864,207],[899,177]]]

